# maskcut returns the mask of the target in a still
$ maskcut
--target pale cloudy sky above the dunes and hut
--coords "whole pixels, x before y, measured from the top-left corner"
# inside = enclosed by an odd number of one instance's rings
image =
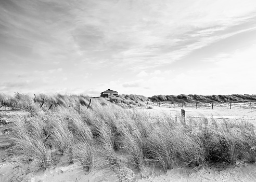
[[[0,0],[0,93],[256,94],[255,0]]]

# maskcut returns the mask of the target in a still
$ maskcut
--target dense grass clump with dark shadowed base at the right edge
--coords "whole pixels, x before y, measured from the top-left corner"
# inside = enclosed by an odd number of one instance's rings
[[[225,119],[216,121],[212,118],[208,121],[203,117],[201,121],[196,125],[196,135],[203,143],[204,160],[227,163],[235,163],[238,157],[255,160],[255,153],[251,148],[255,141],[252,125],[247,127],[244,123],[228,122]],[[193,124],[190,127],[193,129]]]

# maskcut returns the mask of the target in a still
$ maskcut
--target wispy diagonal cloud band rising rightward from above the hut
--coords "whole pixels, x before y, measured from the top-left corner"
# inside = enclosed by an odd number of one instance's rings
[[[254,18],[256,18],[256,16]],[[123,64],[131,67],[131,69],[136,69],[136,67],[138,67],[139,65],[144,65],[146,67],[170,65],[172,62],[181,60],[195,50],[207,47],[220,40],[232,37],[240,33],[256,30],[256,22],[251,19],[249,19],[251,27],[248,27],[246,29],[243,29],[244,27],[241,27],[241,30],[233,30],[234,26],[244,24],[245,21],[248,19],[249,18],[240,18],[239,21],[234,20],[233,24],[229,22],[229,25],[218,25],[216,28],[210,27],[209,29],[206,28],[199,31],[190,30],[188,33],[184,33],[183,39],[175,40],[174,43],[172,43],[172,40],[170,41],[170,43],[168,43],[168,40],[164,41],[163,43],[168,46],[159,46],[156,48],[152,48],[151,52],[148,48],[130,49],[121,52],[117,56],[117,58],[123,58]],[[167,51],[167,47],[170,48],[169,51]],[[140,68],[138,67],[138,69]]]

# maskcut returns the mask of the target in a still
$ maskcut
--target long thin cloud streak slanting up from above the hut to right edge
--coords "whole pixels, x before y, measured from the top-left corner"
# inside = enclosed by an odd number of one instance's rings
[[[226,30],[227,28],[228,27],[225,27],[224,30]],[[231,27],[229,28],[231,29]],[[127,51],[122,52],[121,54],[123,55],[121,55],[120,57],[126,60],[124,63],[122,63],[122,66],[125,65],[127,67],[131,67],[131,69],[133,69],[134,71],[138,71],[140,67],[143,67],[143,65],[144,67],[147,67],[148,65],[151,65],[151,67],[170,65],[172,62],[183,59],[195,50],[207,47],[213,43],[232,37],[234,35],[253,30],[256,30],[256,25],[253,25],[253,27],[249,27],[248,29],[242,29],[238,31],[231,30],[229,32],[219,32],[220,29],[217,29],[216,32],[213,32],[213,30],[211,30],[200,33],[200,36],[198,32],[190,32],[188,37],[185,36],[187,38],[186,41],[184,43],[182,43],[184,40],[181,41],[182,45],[176,43],[178,45],[178,49],[175,48],[175,45],[170,44],[171,47],[169,52],[163,52],[163,49],[161,47],[156,48],[155,51],[152,51],[150,53],[148,53],[148,51],[145,49],[139,53],[137,52],[139,49],[136,49],[136,52],[133,52],[132,50],[129,50],[129,53]],[[140,58],[140,61],[138,61],[138,58]],[[148,68],[150,68],[150,66]]]

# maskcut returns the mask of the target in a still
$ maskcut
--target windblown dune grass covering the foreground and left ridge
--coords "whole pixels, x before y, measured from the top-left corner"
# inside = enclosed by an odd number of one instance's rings
[[[167,172],[174,166],[201,168],[256,160],[255,128],[250,123],[214,118],[184,121],[180,116],[150,116],[124,108],[145,101],[143,96],[90,99],[0,94],[2,105],[24,112],[8,125],[10,159],[46,170],[60,165],[60,156],[66,156],[68,163],[80,165],[86,173],[107,169],[116,181],[147,177],[151,166]]]

